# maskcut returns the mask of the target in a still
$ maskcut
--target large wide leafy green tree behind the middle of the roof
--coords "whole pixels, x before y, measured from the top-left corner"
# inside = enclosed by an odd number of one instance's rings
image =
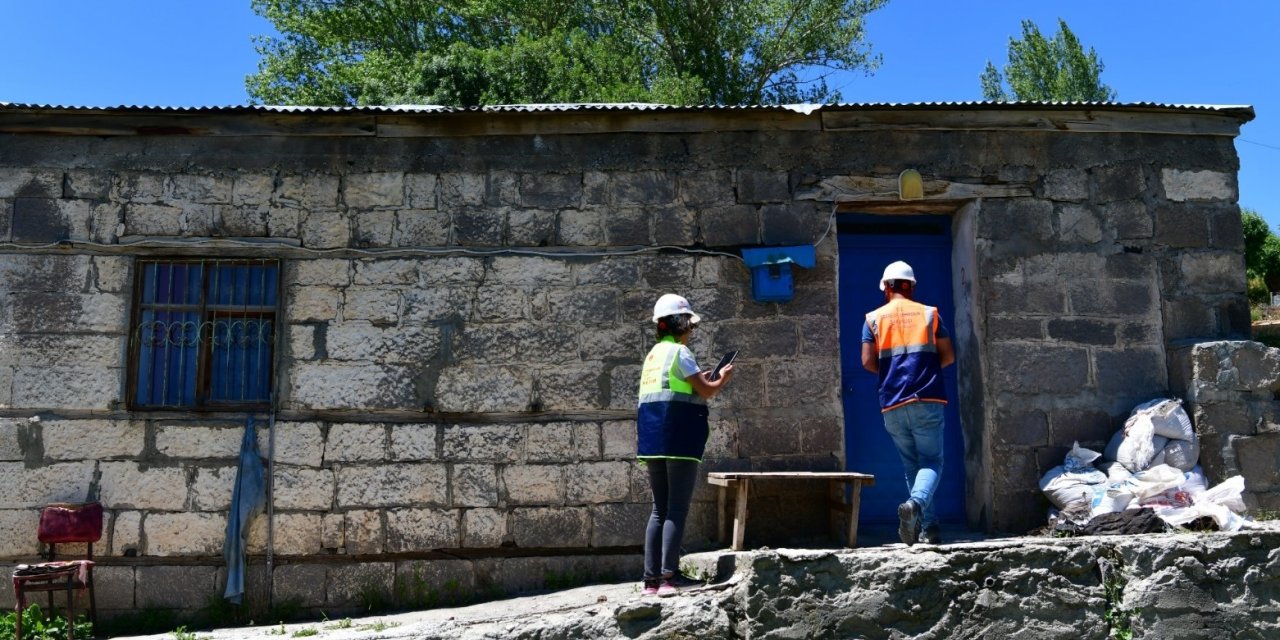
[[[870,73],[888,0],[252,0],[259,102],[782,104]]]

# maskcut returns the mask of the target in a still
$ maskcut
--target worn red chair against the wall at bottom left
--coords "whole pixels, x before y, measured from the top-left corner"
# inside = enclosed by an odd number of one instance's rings
[[[13,572],[13,590],[18,612],[14,640],[22,640],[22,612],[27,608],[28,593],[49,593],[49,608],[54,608],[54,591],[67,591],[67,637],[76,637],[76,591],[88,590],[90,621],[97,627],[97,600],[93,598],[93,543],[102,538],[102,506],[50,504],[40,512],[40,541],[49,545],[49,562],[18,564]],[[58,561],[56,544],[84,543],[84,558]],[[96,632],[96,631],[95,631]]]

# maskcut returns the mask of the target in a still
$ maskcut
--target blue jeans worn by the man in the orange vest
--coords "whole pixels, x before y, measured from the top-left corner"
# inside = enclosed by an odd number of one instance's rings
[[[920,504],[924,526],[938,521],[933,513],[933,494],[942,479],[945,410],[946,404],[941,402],[913,402],[882,413],[884,430],[893,438],[897,454],[902,458],[906,490]]]

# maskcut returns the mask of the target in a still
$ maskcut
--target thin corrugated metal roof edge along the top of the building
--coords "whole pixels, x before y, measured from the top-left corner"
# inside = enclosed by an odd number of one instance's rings
[[[82,105],[44,105],[29,102],[0,102],[0,110],[49,110],[49,111],[108,111],[108,113],[165,113],[165,114],[209,114],[209,113],[292,113],[292,114],[449,114],[449,113],[580,113],[580,111],[794,111],[813,114],[822,110],[965,110],[965,109],[1115,109],[1115,110],[1171,110],[1171,111],[1213,111],[1252,120],[1253,108],[1249,105],[1210,105],[1210,104],[1162,104],[1162,102],[842,102],[835,105],[701,105],[680,106],[649,102],[567,102],[567,104],[527,104],[527,105],[488,105],[488,106],[444,106],[444,105],[387,105],[387,106],[284,106],[284,105],[225,105],[225,106],[82,106]]]

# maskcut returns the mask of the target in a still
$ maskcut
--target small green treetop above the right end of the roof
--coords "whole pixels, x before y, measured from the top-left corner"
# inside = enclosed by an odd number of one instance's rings
[[[1052,40],[1041,35],[1032,20],[1023,20],[1023,37],[1009,38],[1009,64],[1001,74],[987,61],[982,72],[984,100],[1030,100],[1042,102],[1110,102],[1116,92],[1102,83],[1102,60],[1089,47],[1084,52],[1079,38],[1059,18]],[[1005,81],[1007,79],[1007,88]]]

